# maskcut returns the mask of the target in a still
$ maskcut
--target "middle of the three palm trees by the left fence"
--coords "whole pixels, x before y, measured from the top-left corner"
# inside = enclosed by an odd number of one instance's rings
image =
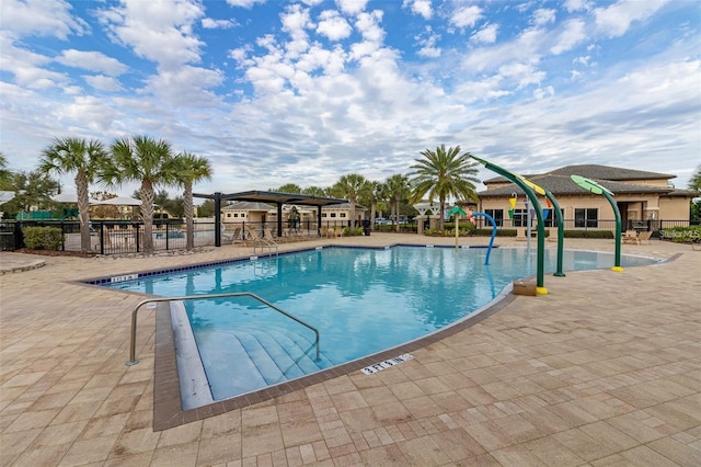
[[[153,254],[154,186],[176,182],[177,164],[171,145],[163,139],[136,135],[117,138],[112,144],[113,161],[103,172],[108,185],[141,182],[141,219],[143,220],[143,254]]]

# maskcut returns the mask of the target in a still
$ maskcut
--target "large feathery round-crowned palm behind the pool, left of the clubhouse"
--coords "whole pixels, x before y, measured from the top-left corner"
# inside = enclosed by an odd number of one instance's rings
[[[414,169],[414,172],[410,173],[413,176],[411,183],[414,197],[421,200],[426,194],[429,201],[438,197],[440,203],[438,229],[443,230],[446,198],[455,196],[476,201],[474,183],[480,182],[475,176],[478,163],[470,159],[469,152],[460,155],[460,146],[446,150],[446,146],[440,145],[435,151],[426,149],[421,151],[421,155],[424,159],[415,159],[416,163],[411,166]]]

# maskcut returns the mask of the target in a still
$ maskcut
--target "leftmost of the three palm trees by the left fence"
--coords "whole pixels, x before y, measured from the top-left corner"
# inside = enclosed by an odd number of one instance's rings
[[[90,252],[90,183],[104,170],[107,151],[96,139],[56,138],[44,149],[39,171],[45,174],[76,173],[78,218],[80,219],[80,251]]]

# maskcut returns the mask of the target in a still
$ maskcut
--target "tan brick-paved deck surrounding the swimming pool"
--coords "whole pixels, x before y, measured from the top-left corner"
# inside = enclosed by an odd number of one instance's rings
[[[280,250],[400,242],[455,239],[372,234]],[[565,247],[613,251],[611,240]],[[142,297],[72,281],[251,249],[91,259],[0,252],[0,465],[701,465],[701,251],[658,240],[622,251],[673,260],[548,274],[548,295],[518,296],[413,351],[414,360],[156,432],[153,310],[139,314],[140,363],[127,367],[130,315]]]

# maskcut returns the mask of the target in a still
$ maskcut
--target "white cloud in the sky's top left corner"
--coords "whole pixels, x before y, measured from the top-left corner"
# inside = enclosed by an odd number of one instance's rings
[[[88,24],[71,15],[72,7],[62,0],[2,0],[2,31],[12,37],[41,35],[66,39],[70,34],[89,32]]]

